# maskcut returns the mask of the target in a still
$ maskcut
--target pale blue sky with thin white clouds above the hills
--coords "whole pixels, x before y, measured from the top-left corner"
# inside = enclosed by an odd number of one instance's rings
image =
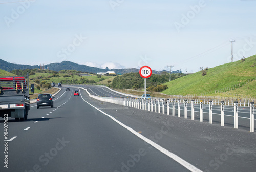
[[[255,0],[0,0],[0,59],[212,68],[256,54]]]

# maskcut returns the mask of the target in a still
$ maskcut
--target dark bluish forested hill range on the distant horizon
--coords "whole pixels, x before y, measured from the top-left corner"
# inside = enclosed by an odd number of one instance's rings
[[[89,72],[89,73],[97,73],[97,72],[107,72],[107,71],[114,71],[116,74],[124,74],[124,73],[130,73],[130,72],[139,72],[139,69],[136,68],[127,68],[127,69],[101,69],[101,68],[96,68],[96,67],[90,67],[86,65],[79,65],[77,63],[71,62],[71,61],[62,61],[60,63],[50,63],[49,65],[45,65],[46,67],[49,67],[50,70],[53,71],[60,71],[60,70],[77,70],[77,71],[82,71],[82,72]],[[9,63],[7,61],[4,61],[0,59],[0,69],[5,70],[5,71],[12,71],[15,69],[39,69],[38,65],[18,65],[18,64],[13,64]],[[162,72],[168,72],[166,70],[163,71],[155,71],[153,70],[152,72],[155,74],[161,74]]]

